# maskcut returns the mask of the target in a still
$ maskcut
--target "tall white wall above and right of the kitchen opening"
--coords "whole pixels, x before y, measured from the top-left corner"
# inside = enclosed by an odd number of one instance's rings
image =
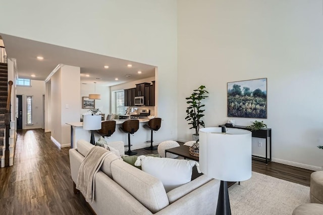
[[[10,22],[0,22],[0,33],[158,67],[158,116],[167,125],[158,132],[176,139],[177,1],[5,1],[1,8]]]

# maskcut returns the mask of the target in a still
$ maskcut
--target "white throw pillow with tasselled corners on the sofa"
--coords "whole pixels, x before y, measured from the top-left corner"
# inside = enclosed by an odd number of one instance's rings
[[[135,166],[156,177],[163,183],[166,192],[191,181],[192,168],[199,165],[194,160],[172,159],[164,157],[138,156]]]

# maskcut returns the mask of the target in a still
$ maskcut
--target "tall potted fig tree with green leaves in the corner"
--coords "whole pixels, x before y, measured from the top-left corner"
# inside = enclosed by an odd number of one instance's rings
[[[186,121],[189,121],[189,125],[192,125],[190,129],[195,129],[195,134],[193,134],[193,140],[198,140],[198,131],[200,129],[200,126],[205,127],[205,124],[201,118],[204,116],[202,108],[205,106],[205,104],[202,104],[202,100],[208,96],[205,94],[208,93],[205,90],[205,86],[201,85],[199,88],[193,90],[193,93],[190,97],[186,98],[186,103],[189,104],[189,106],[186,109]]]

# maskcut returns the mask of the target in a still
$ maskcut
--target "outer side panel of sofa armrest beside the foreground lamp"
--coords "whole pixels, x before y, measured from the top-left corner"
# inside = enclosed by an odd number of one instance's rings
[[[213,179],[155,214],[216,214],[219,188],[220,181]]]

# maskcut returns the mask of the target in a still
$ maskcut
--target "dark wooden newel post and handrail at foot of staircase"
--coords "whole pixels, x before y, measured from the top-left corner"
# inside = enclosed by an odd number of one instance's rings
[[[13,85],[12,81],[8,82],[8,97],[7,97],[7,107],[6,107],[6,113],[5,113],[5,128],[6,128],[6,150],[5,150],[5,167],[9,167],[9,157],[10,157],[10,151],[9,151],[9,135],[10,135],[10,103],[11,103],[11,88]]]

